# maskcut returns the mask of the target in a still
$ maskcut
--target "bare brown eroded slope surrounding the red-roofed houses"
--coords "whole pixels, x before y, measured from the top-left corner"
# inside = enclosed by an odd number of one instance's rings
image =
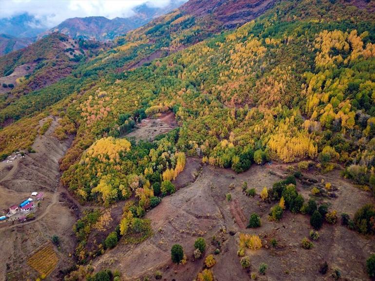
[[[11,217],[0,224],[0,252],[4,258],[0,263],[0,281],[35,280],[38,274],[27,265],[27,258],[54,234],[59,236],[61,248],[57,251],[59,263],[49,279],[57,280],[58,270],[72,265],[70,256],[75,248],[72,226],[76,221],[77,206],[64,196],[58,170],[58,160],[69,148],[72,138],[58,141],[53,136],[57,126],[58,120],[53,117],[46,133],[36,138],[32,146],[35,153],[27,153],[23,158],[11,156],[8,163],[7,160],[0,163],[1,209],[18,205],[33,191],[45,194],[40,206],[36,207],[35,220],[12,223]]]

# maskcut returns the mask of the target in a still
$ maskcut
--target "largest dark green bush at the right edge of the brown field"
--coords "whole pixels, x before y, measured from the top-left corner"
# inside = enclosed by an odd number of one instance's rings
[[[362,234],[375,234],[375,207],[364,205],[356,211],[353,219],[356,230]]]

